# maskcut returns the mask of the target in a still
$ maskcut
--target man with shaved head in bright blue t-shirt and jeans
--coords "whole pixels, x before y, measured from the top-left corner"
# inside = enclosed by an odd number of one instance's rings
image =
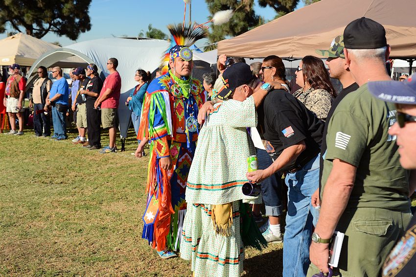
[[[69,86],[67,80],[62,77],[62,69],[54,67],[52,77],[56,81],[50,88],[46,97],[46,105],[52,106],[53,136],[56,140],[67,139],[66,115],[68,111]]]

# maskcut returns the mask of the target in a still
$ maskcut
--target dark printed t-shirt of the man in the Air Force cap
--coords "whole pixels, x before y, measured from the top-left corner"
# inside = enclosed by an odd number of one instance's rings
[[[381,270],[382,277],[409,277],[416,275],[416,212],[406,233],[393,247]]]

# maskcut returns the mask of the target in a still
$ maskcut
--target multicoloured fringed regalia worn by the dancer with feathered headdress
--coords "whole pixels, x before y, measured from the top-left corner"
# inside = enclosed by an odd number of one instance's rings
[[[186,181],[198,138],[196,117],[206,99],[198,79],[189,80],[188,93],[183,87],[171,71],[153,80],[140,119],[138,139],[151,141],[142,237],[158,251],[179,250]],[[169,156],[173,166],[166,171],[160,159]]]

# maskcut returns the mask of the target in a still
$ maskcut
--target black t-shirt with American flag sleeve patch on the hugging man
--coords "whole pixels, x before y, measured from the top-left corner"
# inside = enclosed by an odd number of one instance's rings
[[[274,90],[267,94],[262,107],[263,112],[259,113],[259,122],[263,122],[261,129],[277,156],[287,147],[302,140],[306,144],[306,149],[300,153],[298,159],[286,164],[282,170],[304,165],[318,155],[324,122],[306,109],[298,99],[286,91]],[[261,107],[259,110],[261,111]]]

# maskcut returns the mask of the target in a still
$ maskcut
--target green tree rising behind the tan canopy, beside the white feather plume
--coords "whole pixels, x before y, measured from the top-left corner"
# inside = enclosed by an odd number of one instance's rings
[[[234,14],[228,23],[222,25],[211,24],[208,35],[208,44],[216,43],[226,38],[226,36],[237,36],[258,26],[259,17],[254,13],[254,0],[205,0],[211,17],[221,10],[234,10]],[[208,20],[210,20],[209,18]],[[216,46],[207,46],[209,50]]]

